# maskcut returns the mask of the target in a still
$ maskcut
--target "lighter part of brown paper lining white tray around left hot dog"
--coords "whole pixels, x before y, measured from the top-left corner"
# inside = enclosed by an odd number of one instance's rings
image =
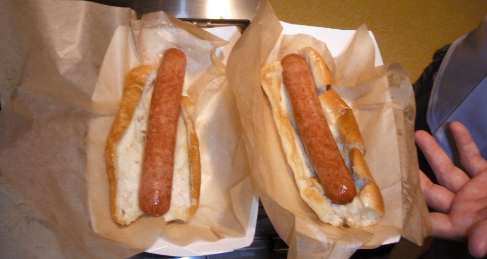
[[[146,14],[140,21],[135,19],[134,14],[130,28],[119,27],[115,32],[93,93],[93,107],[99,116],[89,123],[87,152],[88,194],[95,232],[128,245],[147,240],[145,248],[159,235],[179,246],[245,236],[254,191],[247,177],[247,156],[225,66],[215,55],[216,48],[227,42],[163,12]],[[140,64],[158,66],[169,47],[177,47],[187,56],[183,95],[190,96],[196,104],[193,119],[202,168],[199,207],[188,223],[165,225],[162,217],[143,217],[120,227],[109,215],[103,156],[106,136],[128,70]]]

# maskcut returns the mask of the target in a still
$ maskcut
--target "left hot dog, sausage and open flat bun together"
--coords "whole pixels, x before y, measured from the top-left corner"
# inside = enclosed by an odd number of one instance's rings
[[[112,219],[121,225],[144,214],[188,221],[199,203],[199,143],[191,119],[194,104],[181,96],[184,53],[167,50],[155,69],[143,65],[128,73],[107,138],[110,208]],[[140,79],[137,84],[131,80],[134,74]],[[137,95],[126,94],[134,87]]]

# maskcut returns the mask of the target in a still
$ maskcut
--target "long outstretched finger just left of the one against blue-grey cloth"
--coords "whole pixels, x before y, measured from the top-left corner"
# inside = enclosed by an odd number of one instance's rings
[[[415,137],[438,182],[451,192],[458,192],[470,177],[451,162],[445,151],[426,131],[416,131]]]

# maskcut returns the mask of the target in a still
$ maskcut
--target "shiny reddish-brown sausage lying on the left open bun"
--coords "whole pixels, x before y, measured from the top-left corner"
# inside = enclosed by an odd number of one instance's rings
[[[184,53],[176,48],[168,49],[159,65],[150,102],[139,188],[140,209],[152,216],[166,214],[170,206],[185,71]]]

